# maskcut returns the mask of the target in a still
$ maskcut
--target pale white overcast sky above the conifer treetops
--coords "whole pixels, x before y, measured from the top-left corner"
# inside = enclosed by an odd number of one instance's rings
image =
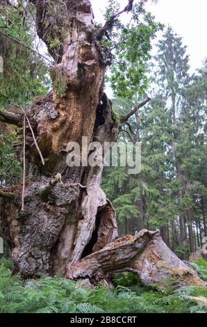
[[[127,0],[119,0],[123,8]],[[100,22],[108,0],[91,0],[95,21]],[[191,71],[201,67],[207,57],[207,0],[158,0],[147,4],[156,21],[169,24],[188,46]],[[102,21],[103,22],[103,21]]]

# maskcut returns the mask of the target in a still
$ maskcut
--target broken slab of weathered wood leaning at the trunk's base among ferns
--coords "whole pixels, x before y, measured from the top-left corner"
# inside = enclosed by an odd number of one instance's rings
[[[112,273],[131,271],[144,285],[153,287],[206,285],[192,267],[172,253],[159,232],[142,230],[137,236],[127,235],[67,267],[66,277],[88,278],[92,282],[106,279]]]

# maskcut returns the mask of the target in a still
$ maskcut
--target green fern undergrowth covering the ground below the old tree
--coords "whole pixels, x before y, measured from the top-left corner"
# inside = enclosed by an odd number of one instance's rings
[[[206,278],[206,262],[201,260],[195,267]],[[114,289],[85,289],[58,276],[22,281],[18,275],[11,276],[11,269],[10,260],[2,258],[0,313],[207,313],[203,302],[191,298],[207,298],[207,287],[181,287],[163,295],[143,287],[138,278],[125,273],[115,276]]]

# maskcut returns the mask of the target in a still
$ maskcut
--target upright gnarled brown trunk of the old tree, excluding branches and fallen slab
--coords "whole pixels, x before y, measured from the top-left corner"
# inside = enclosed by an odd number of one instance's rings
[[[56,64],[51,67],[53,92],[36,99],[26,111],[45,165],[40,165],[40,152],[27,130],[24,212],[20,207],[15,212],[19,234],[13,240],[16,270],[24,278],[65,271],[68,262],[79,260],[92,237],[97,212],[107,205],[100,188],[103,167],[99,171],[69,168],[64,150],[69,141],[80,144],[82,136],[88,136],[88,142],[94,137],[110,51],[97,42],[90,1],[31,3],[36,8],[38,35]],[[58,46],[52,47],[57,40]],[[11,121],[3,115],[3,121]],[[13,122],[17,118],[19,115]],[[61,183],[51,185],[51,178],[58,173]],[[16,192],[18,198],[18,186]]]

